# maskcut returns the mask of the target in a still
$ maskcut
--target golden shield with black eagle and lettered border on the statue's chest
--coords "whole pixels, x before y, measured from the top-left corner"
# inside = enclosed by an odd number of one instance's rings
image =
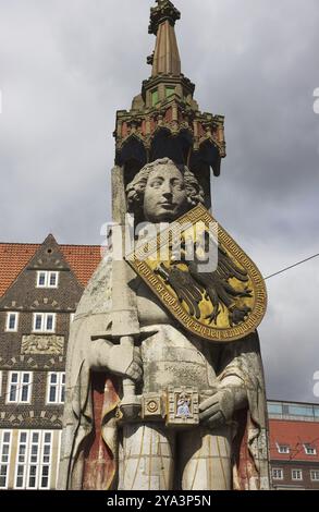
[[[261,273],[203,205],[125,259],[183,328],[206,340],[238,340],[263,318]]]

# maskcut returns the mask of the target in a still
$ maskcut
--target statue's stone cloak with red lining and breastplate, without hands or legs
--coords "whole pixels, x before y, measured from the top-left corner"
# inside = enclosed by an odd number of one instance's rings
[[[246,388],[248,409],[235,413],[232,427],[232,488],[268,489],[268,442],[265,379],[257,332],[231,343],[214,344],[176,326],[158,300],[136,278],[144,362],[142,392],[174,385],[213,389],[225,377]],[[106,338],[112,324],[112,261],[103,259],[93,276],[72,325],[66,361],[66,401],[63,418],[59,487],[115,489],[119,485],[116,411],[121,381],[94,374],[86,361],[93,339]],[[147,336],[147,331],[157,334]],[[194,427],[197,428],[197,427]],[[121,456],[120,456],[121,459]]]

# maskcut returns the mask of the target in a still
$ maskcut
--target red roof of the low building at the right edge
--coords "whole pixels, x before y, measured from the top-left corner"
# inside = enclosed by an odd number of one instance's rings
[[[277,461],[319,462],[319,424],[316,422],[269,420],[270,459]],[[278,444],[289,446],[290,453],[279,453]],[[316,449],[307,455],[304,444]]]

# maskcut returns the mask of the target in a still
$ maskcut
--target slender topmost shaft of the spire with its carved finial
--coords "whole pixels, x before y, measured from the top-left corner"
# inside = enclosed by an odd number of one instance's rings
[[[158,5],[150,10],[149,34],[156,35],[156,48],[151,57],[151,76],[159,74],[179,76],[181,59],[174,25],[181,13],[170,0],[157,0]]]

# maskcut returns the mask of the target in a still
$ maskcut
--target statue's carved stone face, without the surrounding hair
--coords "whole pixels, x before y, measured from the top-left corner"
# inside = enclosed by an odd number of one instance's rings
[[[150,172],[144,194],[144,216],[148,222],[171,222],[186,211],[184,178],[174,164],[159,164]]]

